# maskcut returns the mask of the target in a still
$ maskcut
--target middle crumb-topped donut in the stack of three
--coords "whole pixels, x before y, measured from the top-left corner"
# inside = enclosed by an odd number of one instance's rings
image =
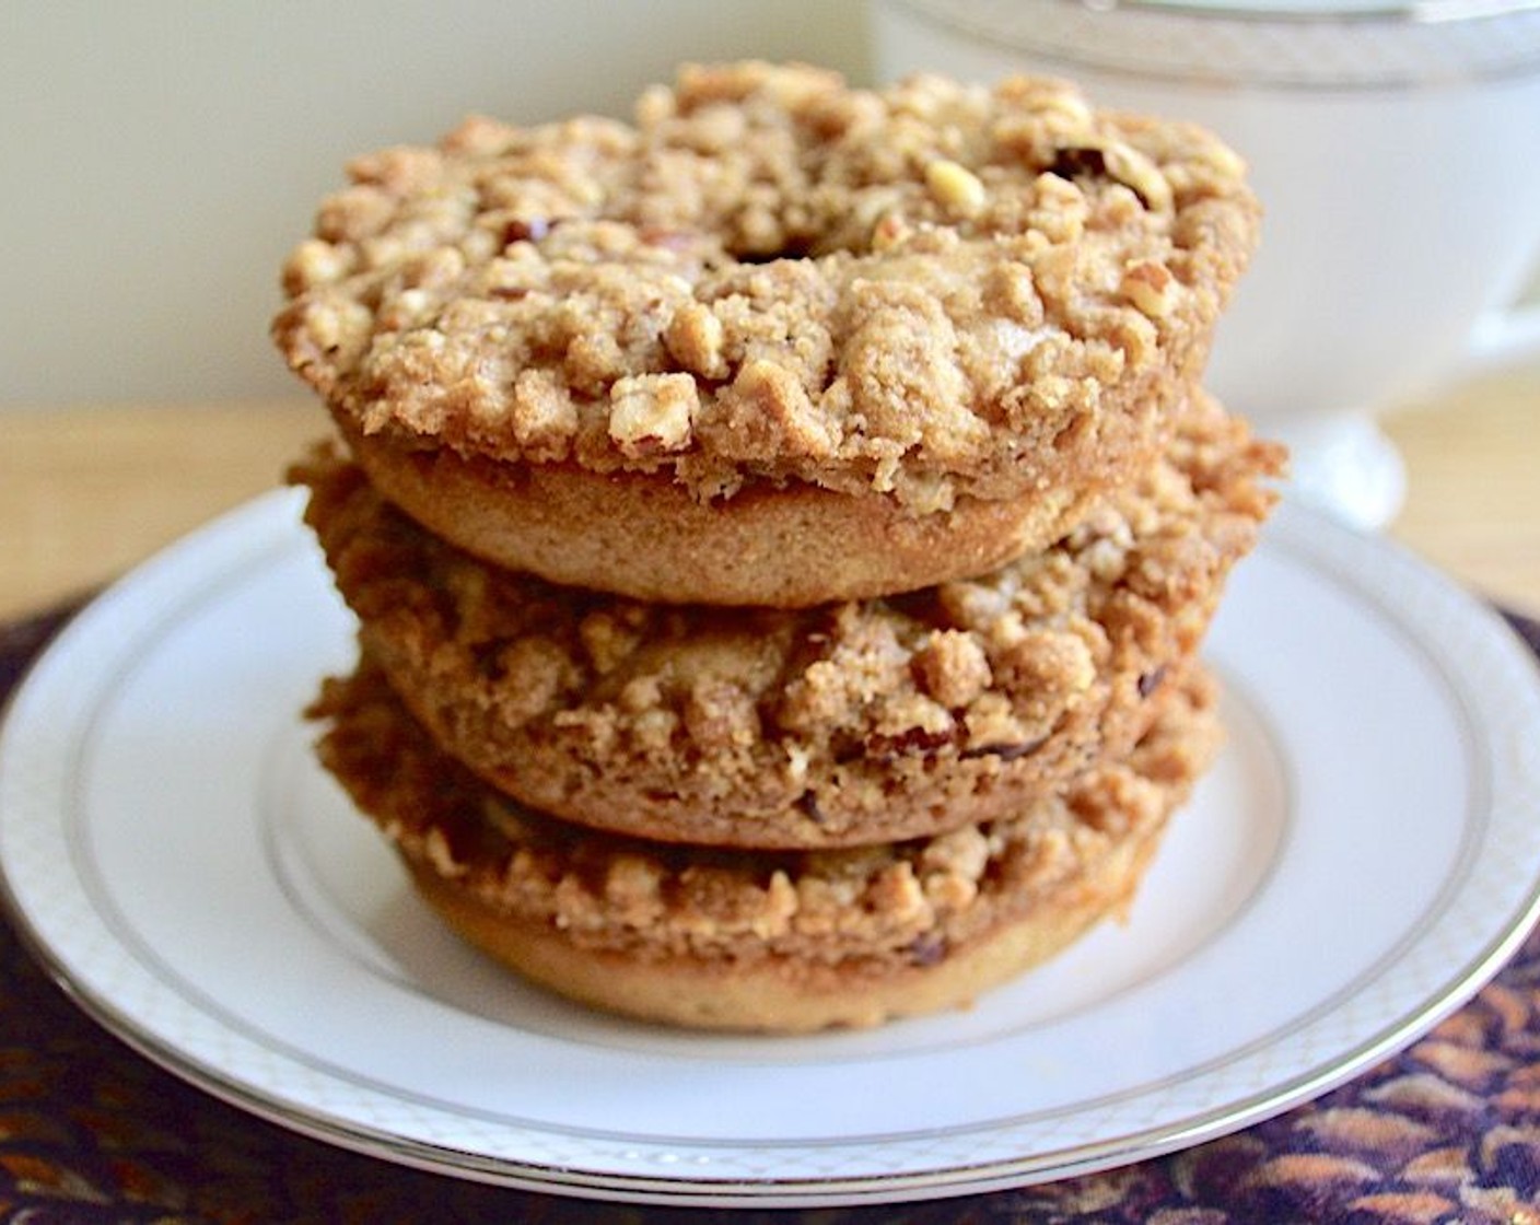
[[[1254,544],[1278,448],[1194,393],[1052,549],[801,610],[654,606],[488,566],[354,464],[294,472],[360,646],[513,798],[661,841],[833,847],[993,820],[1153,723]]]

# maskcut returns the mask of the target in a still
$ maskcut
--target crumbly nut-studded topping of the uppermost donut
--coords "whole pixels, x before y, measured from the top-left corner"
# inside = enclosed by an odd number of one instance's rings
[[[476,485],[1052,505],[1016,552],[1163,444],[1258,220],[1217,139],[1061,82],[767,63],[685,68],[630,125],[470,119],[348,173],[274,337],[373,475],[442,448]]]

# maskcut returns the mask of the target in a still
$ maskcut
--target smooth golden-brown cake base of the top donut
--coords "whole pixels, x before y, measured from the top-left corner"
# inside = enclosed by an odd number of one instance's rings
[[[986,573],[1063,536],[1096,492],[962,498],[929,515],[815,485],[701,502],[662,472],[510,464],[339,425],[380,493],[460,549],[550,582],[670,604],[798,609]]]

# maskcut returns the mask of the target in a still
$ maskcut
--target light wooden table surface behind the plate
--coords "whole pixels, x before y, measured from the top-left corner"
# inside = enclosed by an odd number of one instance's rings
[[[1384,425],[1409,473],[1389,533],[1540,615],[1540,365],[1463,384]],[[303,398],[0,413],[0,618],[106,582],[271,488],[326,428]]]

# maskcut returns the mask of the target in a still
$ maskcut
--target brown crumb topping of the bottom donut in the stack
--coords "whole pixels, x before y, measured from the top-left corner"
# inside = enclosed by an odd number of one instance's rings
[[[444,757],[374,672],[328,681],[326,767],[408,857],[573,945],[642,958],[930,965],[1158,827],[1218,743],[1195,675],[1116,763],[1009,820],[816,852],[667,847],[521,809]]]

